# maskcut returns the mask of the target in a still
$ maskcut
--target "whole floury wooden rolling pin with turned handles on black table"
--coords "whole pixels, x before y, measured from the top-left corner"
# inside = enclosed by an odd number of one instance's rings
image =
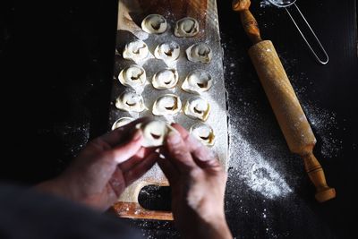
[[[261,39],[258,23],[249,11],[250,4],[250,0],[233,1],[233,9],[240,13],[243,29],[254,43],[249,49],[252,64],[259,75],[289,149],[303,158],[305,170],[316,187],[316,200],[323,202],[333,199],[336,197],[336,191],[328,187],[322,166],[312,152],[316,138],[311,126],[275,47],[271,41]]]

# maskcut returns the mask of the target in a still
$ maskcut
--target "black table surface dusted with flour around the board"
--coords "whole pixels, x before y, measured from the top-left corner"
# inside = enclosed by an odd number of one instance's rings
[[[237,238],[356,238],[356,2],[297,2],[327,49],[327,65],[314,60],[286,11],[265,3],[254,1],[251,12],[262,37],[274,43],[311,122],[315,154],[337,198],[314,200],[303,161],[288,151],[251,65],[251,42],[239,17],[230,1],[217,1],[233,128],[229,226]],[[107,132],[116,6],[116,1],[61,1],[32,4],[20,14],[14,6],[2,8],[2,80],[12,82],[3,88],[10,93],[3,99],[3,117],[12,123],[4,128],[13,135],[14,148],[1,165],[2,180],[36,184],[54,177],[87,141]],[[15,12],[21,19],[16,46]],[[127,221],[149,238],[179,236],[171,222]]]

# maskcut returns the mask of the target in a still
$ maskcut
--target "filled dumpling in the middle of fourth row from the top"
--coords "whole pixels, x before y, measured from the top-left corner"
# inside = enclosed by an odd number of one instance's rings
[[[157,98],[154,102],[153,115],[166,116],[176,115],[182,109],[182,101],[178,96],[166,94]]]

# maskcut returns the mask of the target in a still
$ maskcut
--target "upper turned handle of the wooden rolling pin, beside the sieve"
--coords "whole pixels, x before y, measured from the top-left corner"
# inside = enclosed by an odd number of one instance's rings
[[[240,13],[243,30],[245,30],[252,43],[256,44],[262,41],[262,39],[260,36],[259,24],[249,10],[250,4],[250,0],[234,0],[233,10]]]

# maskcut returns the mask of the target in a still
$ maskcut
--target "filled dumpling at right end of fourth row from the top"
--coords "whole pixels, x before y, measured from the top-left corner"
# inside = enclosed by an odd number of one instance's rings
[[[209,102],[199,96],[189,98],[185,104],[184,113],[193,119],[206,121],[210,114]]]

